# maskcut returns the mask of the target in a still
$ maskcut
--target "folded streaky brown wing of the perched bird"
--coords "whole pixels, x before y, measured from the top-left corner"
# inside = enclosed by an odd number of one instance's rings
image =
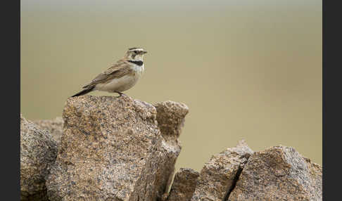
[[[115,65],[108,68],[106,71],[101,72],[98,76],[91,80],[89,84],[83,86],[83,88],[89,88],[89,86],[107,82],[108,80],[122,77],[125,74],[130,73],[132,73],[132,69],[129,67],[129,63],[127,63],[125,60],[119,60],[117,63],[115,63]]]

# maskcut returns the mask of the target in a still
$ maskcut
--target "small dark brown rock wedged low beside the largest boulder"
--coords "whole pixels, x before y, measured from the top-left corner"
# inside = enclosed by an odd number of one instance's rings
[[[175,175],[167,201],[191,200],[198,179],[198,172],[190,168],[181,168]]]

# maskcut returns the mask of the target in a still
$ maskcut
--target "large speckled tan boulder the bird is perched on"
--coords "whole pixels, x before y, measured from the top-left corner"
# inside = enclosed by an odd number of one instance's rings
[[[177,121],[183,122],[187,112],[177,111]],[[153,105],[128,96],[68,98],[61,145],[46,181],[49,199],[161,197],[170,184],[180,145],[176,136],[172,141],[163,138],[158,115],[163,112],[158,114]],[[170,130],[180,132],[180,125],[174,126]]]

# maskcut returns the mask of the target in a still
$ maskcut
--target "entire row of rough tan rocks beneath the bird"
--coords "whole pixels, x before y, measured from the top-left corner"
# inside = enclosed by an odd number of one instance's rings
[[[253,152],[240,141],[172,182],[188,112],[170,100],[78,96],[63,118],[21,117],[21,200],[322,200],[322,167],[281,145]]]

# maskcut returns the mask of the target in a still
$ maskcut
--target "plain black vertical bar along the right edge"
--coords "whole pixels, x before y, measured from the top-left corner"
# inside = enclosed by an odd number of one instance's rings
[[[341,7],[322,1],[322,143],[323,143],[323,200],[338,200],[340,186],[335,180],[341,178]],[[330,28],[329,28],[330,27]]]

